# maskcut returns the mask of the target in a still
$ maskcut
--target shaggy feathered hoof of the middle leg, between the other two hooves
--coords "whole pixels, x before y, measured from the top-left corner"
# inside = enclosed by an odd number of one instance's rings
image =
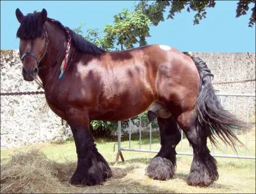
[[[175,165],[167,158],[153,158],[146,168],[146,175],[152,179],[166,181],[175,174]]]

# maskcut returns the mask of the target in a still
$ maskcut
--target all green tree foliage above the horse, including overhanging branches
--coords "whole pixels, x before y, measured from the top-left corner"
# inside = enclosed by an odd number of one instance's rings
[[[252,15],[248,25],[252,27],[255,24],[256,0],[237,1],[236,17],[246,15],[249,5],[254,4]],[[164,21],[164,13],[168,11],[166,19],[174,19],[175,14],[182,10],[196,11],[194,15],[194,25],[199,24],[200,20],[205,19],[208,8],[214,8],[215,0],[157,0],[157,1],[140,1],[135,5],[134,11],[127,9],[114,15],[113,24],[107,24],[102,31],[99,29],[88,29],[85,36],[86,40],[95,43],[104,50],[123,50],[133,48],[134,45],[147,45],[146,38],[150,36],[150,25],[157,26],[159,22]],[[81,26],[75,31],[82,33]]]

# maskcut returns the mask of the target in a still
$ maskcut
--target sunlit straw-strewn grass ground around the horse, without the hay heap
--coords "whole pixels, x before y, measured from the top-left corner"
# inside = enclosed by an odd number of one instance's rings
[[[131,148],[149,149],[149,134],[141,135],[141,144],[138,142],[138,135],[132,135]],[[242,141],[245,135],[239,135]],[[102,186],[74,187],[63,184],[68,193],[255,193],[255,160],[236,159],[236,158],[216,158],[218,161],[218,172],[220,177],[207,188],[193,187],[186,184],[186,175],[189,173],[193,156],[177,155],[177,172],[175,177],[168,181],[157,181],[145,176],[145,168],[155,153],[137,153],[132,151],[122,151],[125,162],[118,162],[114,165],[117,146],[115,152],[113,146],[115,141],[97,139],[97,149],[109,162],[113,169],[113,177],[108,179]],[[122,141],[122,147],[129,147],[127,138]],[[225,147],[224,147],[225,148]],[[239,147],[239,154],[245,154],[245,149]],[[33,146],[23,146],[8,150],[1,150],[1,163],[10,160],[12,154],[19,151],[29,151],[39,149],[47,158],[65,163],[73,161],[76,163],[76,147],[73,140],[68,140],[63,144],[37,144]],[[159,149],[159,137],[157,133],[152,134],[152,150]],[[211,144],[209,144],[211,149]],[[191,151],[186,138],[179,144],[177,151]],[[228,149],[217,150],[218,154],[236,154],[230,147]],[[255,156],[255,130],[248,133],[248,154]]]

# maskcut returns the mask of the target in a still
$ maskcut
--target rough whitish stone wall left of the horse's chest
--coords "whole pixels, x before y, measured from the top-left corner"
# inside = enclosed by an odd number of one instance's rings
[[[36,82],[23,80],[21,66],[17,50],[1,50],[1,93],[42,91]],[[1,96],[1,148],[70,137],[45,103],[44,94]]]

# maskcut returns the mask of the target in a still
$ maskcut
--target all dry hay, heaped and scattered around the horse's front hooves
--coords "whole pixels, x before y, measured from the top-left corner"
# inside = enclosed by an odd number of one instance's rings
[[[68,180],[76,170],[76,162],[58,163],[32,149],[1,164],[1,193],[166,193],[168,190],[140,183],[143,177],[149,179],[144,169],[145,164],[140,163],[118,165],[112,167],[113,177],[104,185],[72,186]],[[138,170],[140,176],[132,176]]]

